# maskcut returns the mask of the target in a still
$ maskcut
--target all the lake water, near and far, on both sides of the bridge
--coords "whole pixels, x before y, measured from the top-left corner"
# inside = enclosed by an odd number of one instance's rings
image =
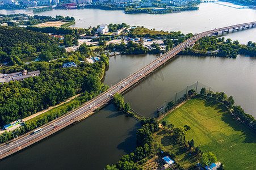
[[[127,23],[144,25],[165,31],[184,33],[202,32],[256,20],[256,10],[202,3],[198,11],[177,14],[124,14],[123,11],[53,10],[37,15],[74,16],[72,27],[87,28],[104,23]],[[0,11],[1,14],[31,13],[31,11]],[[79,20],[81,19],[81,20]],[[225,37],[241,43],[256,41],[256,29],[229,33]],[[104,84],[115,84],[120,79],[145,66],[156,55],[116,56],[110,58],[110,69],[106,71]],[[155,111],[166,100],[186,86],[200,83],[212,90],[233,95],[236,104],[246,113],[256,117],[256,58],[238,56],[236,59],[221,57],[179,56],[150,75],[138,86],[124,95],[125,101],[135,111],[145,116],[155,116]],[[82,122],[69,126],[59,133],[35,145],[3,159],[1,169],[103,169],[113,164],[121,155],[136,147],[136,130],[139,122],[118,112],[110,104]]]

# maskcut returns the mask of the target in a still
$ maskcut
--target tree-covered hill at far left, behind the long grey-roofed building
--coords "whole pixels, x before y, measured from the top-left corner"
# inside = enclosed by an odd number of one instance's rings
[[[45,33],[23,28],[0,27],[0,61],[11,61],[21,65],[20,58],[36,56],[48,51],[53,58],[62,57],[66,51],[57,46],[57,41]]]

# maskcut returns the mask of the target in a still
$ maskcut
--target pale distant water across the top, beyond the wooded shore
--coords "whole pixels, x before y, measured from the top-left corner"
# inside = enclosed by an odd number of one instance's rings
[[[0,10],[0,14],[25,13],[32,14],[31,10]],[[70,27],[88,28],[99,24],[127,23],[140,25],[149,29],[164,31],[182,31],[183,33],[199,33],[209,29],[225,27],[233,24],[252,22],[256,20],[256,10],[236,9],[215,3],[201,3],[198,11],[183,11],[174,14],[124,14],[123,11],[107,11],[99,9],[82,10],[52,10],[37,13],[36,15],[74,16],[75,24]],[[241,31],[239,40],[245,44],[256,41],[256,29],[248,33]],[[230,36],[229,36],[230,35]],[[226,37],[233,37],[229,34]]]

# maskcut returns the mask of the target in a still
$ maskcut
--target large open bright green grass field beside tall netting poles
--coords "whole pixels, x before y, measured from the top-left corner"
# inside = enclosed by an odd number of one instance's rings
[[[233,119],[225,105],[196,96],[166,116],[175,127],[189,125],[186,140],[211,151],[225,169],[256,169],[256,135]]]

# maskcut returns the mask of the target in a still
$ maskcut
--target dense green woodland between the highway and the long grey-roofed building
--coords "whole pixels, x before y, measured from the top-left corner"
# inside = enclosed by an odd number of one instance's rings
[[[106,90],[107,86],[100,82],[105,63],[81,63],[78,55],[73,54],[51,63],[32,62],[23,67],[2,68],[1,73],[40,70],[40,76],[0,84],[0,125],[30,116],[81,92],[98,94]],[[62,63],[71,61],[77,63],[77,68],[62,68]]]

